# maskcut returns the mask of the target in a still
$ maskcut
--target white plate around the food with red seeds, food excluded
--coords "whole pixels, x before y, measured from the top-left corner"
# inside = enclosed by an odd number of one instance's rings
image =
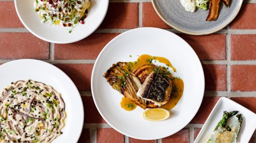
[[[22,24],[40,39],[52,43],[72,43],[84,39],[94,32],[102,23],[109,0],[91,0],[85,24],[78,24],[71,33],[59,25],[42,24],[39,14],[34,10],[35,0],[14,0],[15,8]]]

